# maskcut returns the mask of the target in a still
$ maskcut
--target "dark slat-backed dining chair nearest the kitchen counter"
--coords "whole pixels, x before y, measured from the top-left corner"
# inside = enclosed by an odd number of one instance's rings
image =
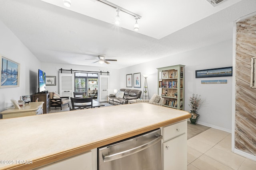
[[[72,109],[88,109],[92,108],[92,98],[70,98]]]

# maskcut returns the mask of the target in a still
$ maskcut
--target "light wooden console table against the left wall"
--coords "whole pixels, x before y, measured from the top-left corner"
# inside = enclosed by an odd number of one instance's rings
[[[0,114],[2,115],[2,119],[39,115],[43,114],[43,104],[44,102],[30,102],[29,104],[20,106],[20,109],[10,108],[0,112]]]

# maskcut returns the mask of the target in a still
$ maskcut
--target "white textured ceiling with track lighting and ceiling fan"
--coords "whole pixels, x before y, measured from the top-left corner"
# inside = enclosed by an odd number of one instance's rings
[[[124,68],[232,39],[233,21],[256,12],[255,0],[226,0],[217,7],[195,0],[199,9],[190,9],[192,4],[185,3],[190,0],[111,2],[142,16],[138,32],[93,15],[107,15],[105,10],[86,7],[94,10],[85,15],[41,0],[0,0],[0,20],[42,62]],[[164,13],[170,6],[177,11]],[[152,22],[160,26],[150,26]],[[97,55],[118,61],[85,60]]]

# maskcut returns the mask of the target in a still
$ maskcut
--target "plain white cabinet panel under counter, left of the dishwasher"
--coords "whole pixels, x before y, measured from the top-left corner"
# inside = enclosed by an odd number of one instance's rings
[[[92,170],[92,152],[85,152],[34,170]]]

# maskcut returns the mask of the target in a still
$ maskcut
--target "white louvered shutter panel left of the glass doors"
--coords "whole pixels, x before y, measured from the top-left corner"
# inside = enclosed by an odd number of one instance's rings
[[[60,97],[73,97],[74,74],[59,73]]]

